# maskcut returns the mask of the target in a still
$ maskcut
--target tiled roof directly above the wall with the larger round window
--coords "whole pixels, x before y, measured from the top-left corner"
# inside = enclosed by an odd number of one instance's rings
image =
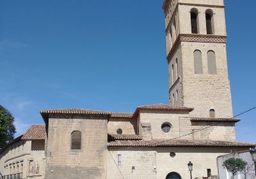
[[[150,110],[150,111],[188,111],[188,112],[191,112],[194,109],[191,108],[191,107],[176,106],[176,105],[170,105],[170,104],[141,105],[141,106],[137,107],[137,109],[134,112],[132,117],[136,118],[138,116],[140,110]]]

